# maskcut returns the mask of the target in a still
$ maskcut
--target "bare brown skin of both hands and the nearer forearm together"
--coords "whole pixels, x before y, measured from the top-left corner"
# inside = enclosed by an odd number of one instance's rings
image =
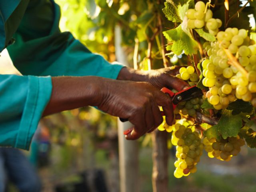
[[[160,91],[162,87],[182,90],[188,84],[176,78],[178,68],[138,71],[122,68],[117,80],[97,76],[52,77],[52,96],[43,116],[83,106],[98,106],[108,114],[128,119],[134,130],[126,139],[134,140],[151,132],[163,121],[174,120],[172,100]]]

